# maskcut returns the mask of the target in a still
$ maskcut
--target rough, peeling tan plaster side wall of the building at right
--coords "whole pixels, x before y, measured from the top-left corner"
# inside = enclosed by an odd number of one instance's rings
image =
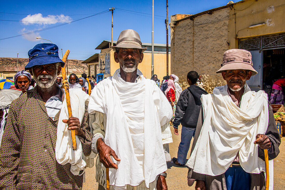
[[[223,53],[229,49],[229,12],[230,8],[221,9],[212,15],[195,17],[194,21],[180,21],[176,26],[173,25],[175,18],[171,18],[171,73],[180,78],[183,89],[188,86],[186,76],[192,70],[202,75],[204,88],[209,93],[214,87],[225,85],[221,74],[215,71],[221,68]]]

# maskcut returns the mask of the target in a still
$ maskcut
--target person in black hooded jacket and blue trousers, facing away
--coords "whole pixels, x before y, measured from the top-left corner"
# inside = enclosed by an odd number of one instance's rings
[[[196,86],[197,79],[198,73],[196,71],[190,71],[187,74],[189,87],[180,94],[180,98],[176,105],[175,118],[173,121],[174,134],[179,135],[178,126],[180,123],[182,125],[182,130],[177,158],[172,158],[172,161],[179,166],[186,163],[190,142],[195,134],[201,109],[201,95],[208,94],[204,89]]]

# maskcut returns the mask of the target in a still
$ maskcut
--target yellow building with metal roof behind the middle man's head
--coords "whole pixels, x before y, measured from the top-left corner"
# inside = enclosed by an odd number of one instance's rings
[[[114,46],[117,41],[113,41]],[[99,46],[97,46],[97,50],[101,50],[101,53],[94,54],[87,60],[85,60],[84,64],[87,64],[89,73],[88,75],[92,76],[93,73],[90,73],[90,67],[95,66],[94,69],[96,73],[104,73],[104,77],[112,76],[117,69],[120,68],[119,63],[116,63],[114,60],[114,51],[111,46],[111,41],[104,40]],[[147,78],[151,78],[151,43],[142,43],[143,48],[147,48],[146,51],[143,52],[144,58],[143,62],[139,64],[138,69],[143,73]],[[169,66],[168,71],[170,74],[170,44],[169,47]],[[166,75],[166,44],[154,44],[154,74],[157,75],[158,79],[162,81],[162,78]]]

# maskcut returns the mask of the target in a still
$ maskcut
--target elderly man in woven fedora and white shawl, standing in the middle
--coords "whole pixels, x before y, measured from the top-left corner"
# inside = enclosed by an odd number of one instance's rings
[[[138,70],[146,50],[139,34],[122,31],[112,48],[120,68],[95,86],[88,105],[95,114],[92,151],[99,154],[99,189],[106,188],[106,167],[110,189],[167,190],[163,144],[172,142],[172,108],[156,83]]]

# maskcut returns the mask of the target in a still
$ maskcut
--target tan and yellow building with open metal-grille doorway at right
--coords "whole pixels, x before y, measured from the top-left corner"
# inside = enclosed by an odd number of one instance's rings
[[[225,84],[215,73],[223,53],[246,49],[258,71],[247,83],[253,90],[270,93],[273,81],[285,76],[284,10],[284,0],[243,0],[194,15],[171,16],[171,73],[185,79],[195,70],[211,92]],[[186,87],[186,80],[181,82]]]

